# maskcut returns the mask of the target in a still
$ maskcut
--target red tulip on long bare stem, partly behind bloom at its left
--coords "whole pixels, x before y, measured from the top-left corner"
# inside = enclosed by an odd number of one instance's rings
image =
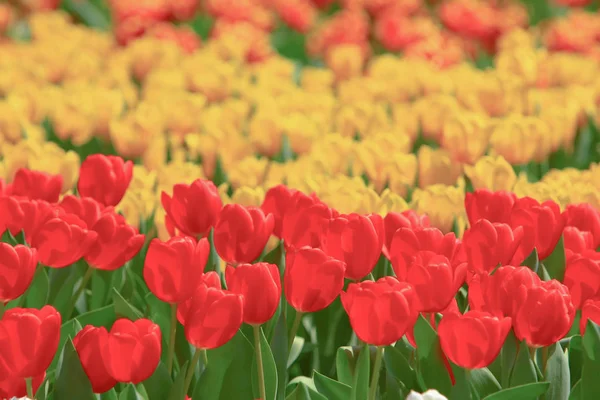
[[[281,279],[277,266],[269,263],[227,266],[227,288],[244,298],[244,322],[261,325],[277,311],[281,298]]]

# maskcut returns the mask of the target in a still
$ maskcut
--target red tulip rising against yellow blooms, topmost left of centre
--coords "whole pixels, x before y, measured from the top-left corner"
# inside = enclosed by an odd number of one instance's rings
[[[215,184],[204,179],[173,186],[173,197],[162,192],[161,201],[175,227],[190,236],[206,236],[223,206]]]

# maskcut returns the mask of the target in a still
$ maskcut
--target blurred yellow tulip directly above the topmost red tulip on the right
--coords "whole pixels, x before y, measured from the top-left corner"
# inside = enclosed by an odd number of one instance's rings
[[[465,165],[465,175],[475,190],[511,191],[517,181],[515,171],[502,156],[485,156],[475,165]]]

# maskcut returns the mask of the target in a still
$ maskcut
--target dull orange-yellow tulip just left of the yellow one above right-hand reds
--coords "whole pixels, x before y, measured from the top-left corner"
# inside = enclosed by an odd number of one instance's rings
[[[452,160],[444,149],[421,146],[417,152],[419,187],[442,183],[453,185],[462,174],[462,164]]]

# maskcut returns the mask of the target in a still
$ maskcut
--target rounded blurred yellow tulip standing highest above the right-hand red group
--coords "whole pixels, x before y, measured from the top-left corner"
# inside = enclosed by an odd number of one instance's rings
[[[454,160],[473,164],[487,150],[492,123],[478,113],[463,112],[446,119],[442,144]]]

